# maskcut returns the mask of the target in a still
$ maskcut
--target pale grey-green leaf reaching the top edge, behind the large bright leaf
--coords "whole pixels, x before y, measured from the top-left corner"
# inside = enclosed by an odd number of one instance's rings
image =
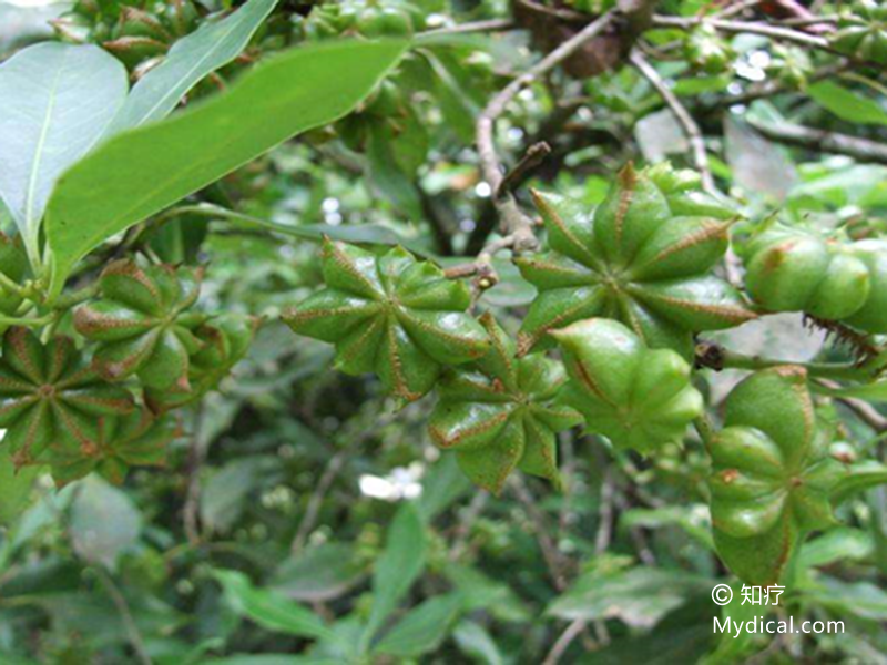
[[[188,90],[246,48],[276,3],[277,0],[251,0],[226,19],[204,24],[175,42],[160,66],[133,86],[106,135],[169,115]]]

